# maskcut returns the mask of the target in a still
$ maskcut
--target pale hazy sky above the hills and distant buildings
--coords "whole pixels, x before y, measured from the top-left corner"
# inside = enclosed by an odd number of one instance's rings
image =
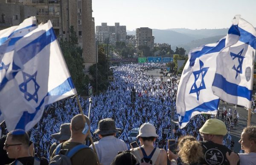
[[[256,0],[92,0],[95,26],[229,28],[240,14],[256,27]]]

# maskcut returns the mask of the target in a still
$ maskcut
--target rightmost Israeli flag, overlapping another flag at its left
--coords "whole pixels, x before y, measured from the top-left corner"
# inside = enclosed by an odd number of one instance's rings
[[[253,90],[253,65],[256,31],[247,21],[235,16],[226,45],[217,57],[213,93],[226,102],[250,108]]]

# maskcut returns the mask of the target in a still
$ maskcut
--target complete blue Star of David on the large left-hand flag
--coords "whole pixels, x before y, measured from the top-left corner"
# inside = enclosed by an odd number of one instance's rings
[[[20,91],[24,93],[24,97],[26,100],[30,101],[30,100],[34,100],[36,103],[38,102],[38,90],[40,88],[40,86],[38,85],[38,83],[36,82],[36,74],[37,74],[37,71],[35,72],[35,74],[32,74],[32,75],[29,75],[25,72],[22,72],[23,74],[23,80],[24,82],[21,83],[19,85],[19,88],[20,88]],[[32,81],[34,87],[35,87],[35,91],[32,92],[33,94],[31,94],[29,91],[28,91],[28,83],[29,85],[32,85],[30,82]],[[31,88],[31,87],[30,87]]]

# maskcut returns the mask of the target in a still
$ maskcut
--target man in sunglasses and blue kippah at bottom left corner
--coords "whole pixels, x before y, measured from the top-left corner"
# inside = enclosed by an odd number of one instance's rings
[[[29,153],[29,135],[22,129],[7,134],[4,150],[11,159],[9,165],[48,165],[47,159],[34,157]]]

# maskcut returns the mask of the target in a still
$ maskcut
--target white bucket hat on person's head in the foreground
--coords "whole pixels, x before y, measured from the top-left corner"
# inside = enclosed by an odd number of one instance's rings
[[[139,137],[158,137],[156,128],[154,128],[154,125],[150,123],[144,123],[140,126],[140,131],[137,138]]]

